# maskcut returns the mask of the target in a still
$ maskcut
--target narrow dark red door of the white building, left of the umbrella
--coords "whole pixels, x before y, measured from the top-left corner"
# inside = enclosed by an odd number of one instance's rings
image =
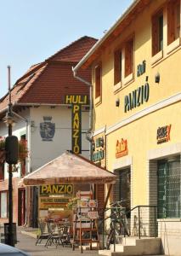
[[[18,225],[25,224],[25,189],[18,190]]]

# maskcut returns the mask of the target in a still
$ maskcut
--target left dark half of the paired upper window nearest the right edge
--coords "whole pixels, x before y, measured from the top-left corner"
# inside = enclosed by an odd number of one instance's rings
[[[152,55],[163,49],[163,12],[159,11],[152,18]]]

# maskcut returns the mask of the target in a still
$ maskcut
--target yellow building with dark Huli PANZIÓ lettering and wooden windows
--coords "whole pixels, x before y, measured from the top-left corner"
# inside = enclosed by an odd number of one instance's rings
[[[170,255],[181,254],[180,5],[134,1],[74,68],[93,70],[93,160],[119,177],[113,200],[136,207],[132,231],[138,206],[147,206],[140,208],[146,236],[157,206],[158,236]]]

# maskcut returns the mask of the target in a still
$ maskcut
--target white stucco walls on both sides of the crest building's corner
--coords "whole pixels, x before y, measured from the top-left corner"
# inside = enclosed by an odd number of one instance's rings
[[[83,108],[83,110],[85,110]],[[68,107],[50,108],[41,106],[39,108],[27,108],[19,113],[28,120],[15,118],[16,124],[13,127],[13,134],[20,139],[20,136],[26,134],[28,142],[29,157],[26,160],[27,171],[33,172],[38,167],[48,163],[65,150],[71,150],[71,109]],[[51,116],[51,122],[55,124],[55,133],[52,141],[42,141],[40,134],[40,124],[44,121],[44,116]],[[82,112],[82,132],[88,131],[88,111]],[[8,128],[0,122],[0,136],[6,137]],[[82,150],[88,150],[88,141],[86,134],[82,133]],[[88,151],[82,151],[82,155],[89,156]],[[20,177],[20,168],[14,172],[14,177]],[[7,166],[5,166],[4,178],[8,178]]]

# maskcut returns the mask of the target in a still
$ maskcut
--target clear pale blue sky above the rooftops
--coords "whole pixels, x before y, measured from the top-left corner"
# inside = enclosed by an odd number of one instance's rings
[[[102,38],[133,0],[0,0],[0,98],[31,65],[83,36]]]

